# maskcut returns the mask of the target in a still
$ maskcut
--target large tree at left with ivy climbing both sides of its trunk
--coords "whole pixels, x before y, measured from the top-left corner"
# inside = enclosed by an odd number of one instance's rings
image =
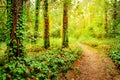
[[[10,30],[9,57],[18,57],[23,53],[23,0],[7,0],[7,22]]]

